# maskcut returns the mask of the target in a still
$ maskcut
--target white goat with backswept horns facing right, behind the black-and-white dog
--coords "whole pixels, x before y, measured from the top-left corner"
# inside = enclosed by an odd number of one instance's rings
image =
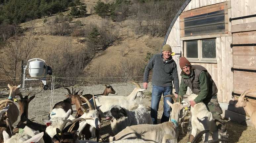
[[[104,117],[104,112],[109,110],[112,105],[119,105],[127,110],[134,110],[138,107],[138,103],[135,101],[136,97],[145,98],[145,94],[142,92],[145,89],[141,89],[139,83],[131,82],[137,87],[134,88],[129,96],[96,96],[95,102],[100,109],[101,117]],[[92,101],[92,99],[90,100]]]

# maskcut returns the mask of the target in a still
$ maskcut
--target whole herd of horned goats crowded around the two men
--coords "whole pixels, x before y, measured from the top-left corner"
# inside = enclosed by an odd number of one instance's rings
[[[1,143],[96,143],[89,139],[96,138],[97,142],[103,141],[100,136],[101,118],[110,121],[112,135],[109,137],[111,143],[175,143],[178,142],[178,127],[181,123],[184,134],[184,117],[190,107],[189,101],[197,95],[184,95],[182,102],[177,102],[174,95],[170,96],[174,103],[167,101],[172,108],[172,114],[168,122],[152,125],[150,112],[136,98],[145,98],[140,85],[131,82],[137,87],[129,96],[107,96],[114,94],[115,90],[105,84],[106,89],[103,94],[83,95],[83,90],[70,91],[65,88],[68,94],[64,101],[56,103],[49,113],[48,119],[42,119],[44,125],[35,123],[28,119],[28,105],[35,97],[35,93],[22,96],[19,86],[11,86],[9,98],[0,101],[0,142]],[[249,107],[250,103],[245,98],[244,92],[239,98],[236,107]],[[20,99],[16,98],[20,97]],[[29,98],[28,98],[29,97]],[[19,116],[20,108],[21,120],[17,127],[13,124]],[[72,105],[76,107],[76,115],[72,116]],[[192,134],[192,142],[198,142],[203,136],[203,142],[220,142],[228,139],[220,139],[218,130],[211,112],[206,109],[206,105],[198,103],[190,107],[192,115],[192,130],[197,133]],[[254,114],[254,115],[253,115]],[[250,114],[251,118],[255,116]],[[200,119],[206,119],[202,122]],[[254,117],[254,120],[256,117]],[[180,122],[179,122],[180,121]],[[255,121],[254,121],[255,122]],[[254,124],[255,126],[255,124]],[[256,127],[256,126],[255,126]],[[209,137],[208,137],[209,136]]]

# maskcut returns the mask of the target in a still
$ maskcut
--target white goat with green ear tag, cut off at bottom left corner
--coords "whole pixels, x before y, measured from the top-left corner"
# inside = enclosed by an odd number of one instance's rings
[[[23,130],[23,133],[17,133],[11,138],[6,131],[3,131],[4,143],[44,143],[42,138],[44,132],[39,133],[39,131],[34,131],[27,126]]]

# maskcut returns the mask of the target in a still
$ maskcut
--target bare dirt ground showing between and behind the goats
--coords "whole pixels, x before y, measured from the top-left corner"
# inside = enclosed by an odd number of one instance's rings
[[[116,94],[109,94],[109,96],[117,96],[117,95],[124,95],[127,96],[129,93],[132,92],[134,89],[134,85],[131,83],[115,83],[111,84]],[[150,85],[150,84],[149,84]],[[151,86],[149,86],[151,87]],[[71,87],[69,87],[71,88]],[[76,89],[84,89],[84,93],[93,93],[93,94],[100,94],[103,92],[105,86],[100,85],[91,85],[91,86],[81,86],[75,87]],[[140,100],[145,107],[150,109],[150,100],[151,100],[151,88],[145,91],[146,98]],[[36,97],[30,102],[29,109],[28,109],[28,118],[34,122],[43,124],[42,119],[47,119],[47,115],[50,111],[50,101],[51,101],[51,90],[44,91],[41,88],[26,88],[24,91],[21,89],[21,92],[24,95],[28,94],[29,92],[35,92]],[[64,88],[58,88],[54,90],[53,96],[53,105],[59,101],[65,99],[64,94],[67,91]],[[2,90],[0,91],[0,99],[6,99],[9,95],[9,90]],[[160,122],[160,118],[163,112],[163,101],[160,101],[159,111],[158,111],[158,122]],[[17,105],[18,106],[18,105]],[[75,106],[73,107],[75,109]],[[19,121],[20,119],[18,119]],[[179,142],[185,143],[188,138],[187,133],[187,126],[188,126],[188,119],[185,120],[185,135],[180,134]],[[239,142],[239,143],[254,143],[256,142],[256,129],[254,127],[246,127],[240,124],[237,124],[230,120],[225,120],[231,142]],[[17,122],[16,122],[17,124]],[[14,126],[16,125],[14,124]],[[180,129],[180,128],[179,128]],[[101,136],[104,141],[108,141],[108,137],[112,135],[110,122],[106,121],[105,119],[102,120],[102,129],[101,129]],[[93,139],[95,140],[95,139]]]

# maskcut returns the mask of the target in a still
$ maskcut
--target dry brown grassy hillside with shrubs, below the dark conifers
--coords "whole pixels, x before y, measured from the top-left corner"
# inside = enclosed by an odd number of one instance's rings
[[[140,10],[143,5],[145,5],[143,8],[145,10],[150,7],[159,9],[164,3],[155,5],[154,2],[144,4],[132,1],[129,5],[131,10],[127,14],[128,16],[122,20],[118,20],[118,17],[117,20],[113,20],[110,16],[99,16],[95,13],[93,7],[96,6],[97,0],[81,2],[87,6],[85,17],[73,17],[71,21],[66,21],[70,17],[69,7],[62,13],[21,23],[21,28],[25,31],[17,35],[18,38],[14,36],[12,40],[9,40],[9,44],[15,47],[22,40],[25,41],[24,47],[34,44],[34,47],[31,47],[30,55],[26,58],[46,60],[47,65],[53,68],[54,75],[59,77],[142,76],[147,63],[144,60],[147,53],[159,52],[163,36],[165,36],[165,32],[161,31],[167,30],[171,19],[163,16],[168,13],[159,13],[162,11],[155,14],[162,15],[158,20],[150,19],[152,16],[150,14],[134,13],[133,11]],[[168,1],[168,3],[175,4],[169,6],[172,11],[171,16],[175,15],[182,4],[181,1],[176,0]],[[161,18],[165,18],[165,21]],[[163,22],[167,23],[163,24]],[[167,28],[163,29],[164,27]],[[94,34],[95,28],[100,33],[100,36],[96,36],[96,40],[101,42],[99,45],[95,45],[94,39],[90,37],[91,34]],[[27,41],[28,39],[30,41]],[[33,44],[31,44],[32,42]],[[9,47],[0,49],[2,58],[7,62],[13,60],[8,55]],[[24,51],[26,49],[19,52]],[[26,58],[21,56],[17,58],[15,68],[17,72],[15,73],[14,69],[8,69],[8,66],[12,64],[2,66],[7,71],[10,70],[11,75],[7,76],[4,70],[1,70],[0,79],[21,77],[21,59],[26,61]],[[141,81],[142,79],[130,80]],[[19,84],[19,80],[16,83]]]

